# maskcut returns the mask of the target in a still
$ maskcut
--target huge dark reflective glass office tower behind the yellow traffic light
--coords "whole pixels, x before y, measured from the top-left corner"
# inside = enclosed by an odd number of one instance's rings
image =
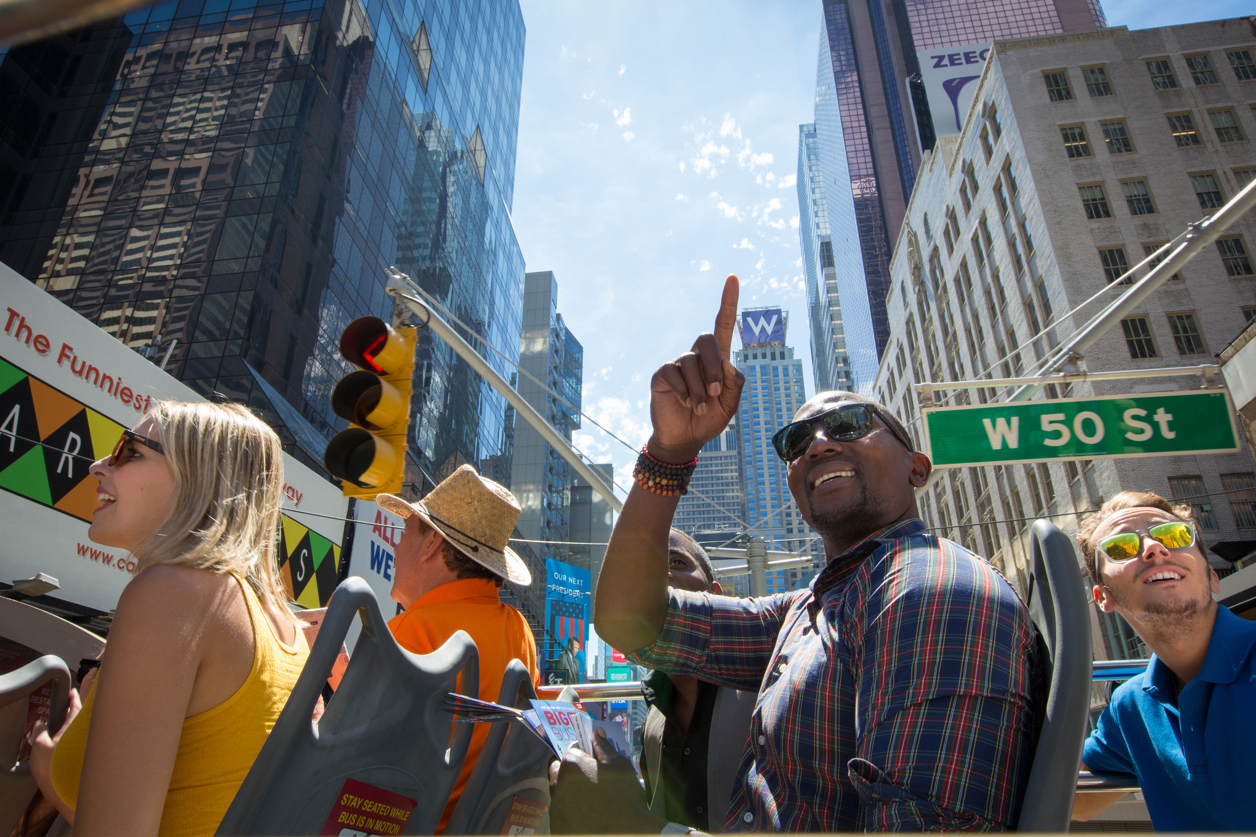
[[[517,358],[522,56],[510,0],[170,0],[13,49],[0,259],[318,464],[387,266]],[[414,384],[407,491],[509,483],[504,398],[428,331]]]

